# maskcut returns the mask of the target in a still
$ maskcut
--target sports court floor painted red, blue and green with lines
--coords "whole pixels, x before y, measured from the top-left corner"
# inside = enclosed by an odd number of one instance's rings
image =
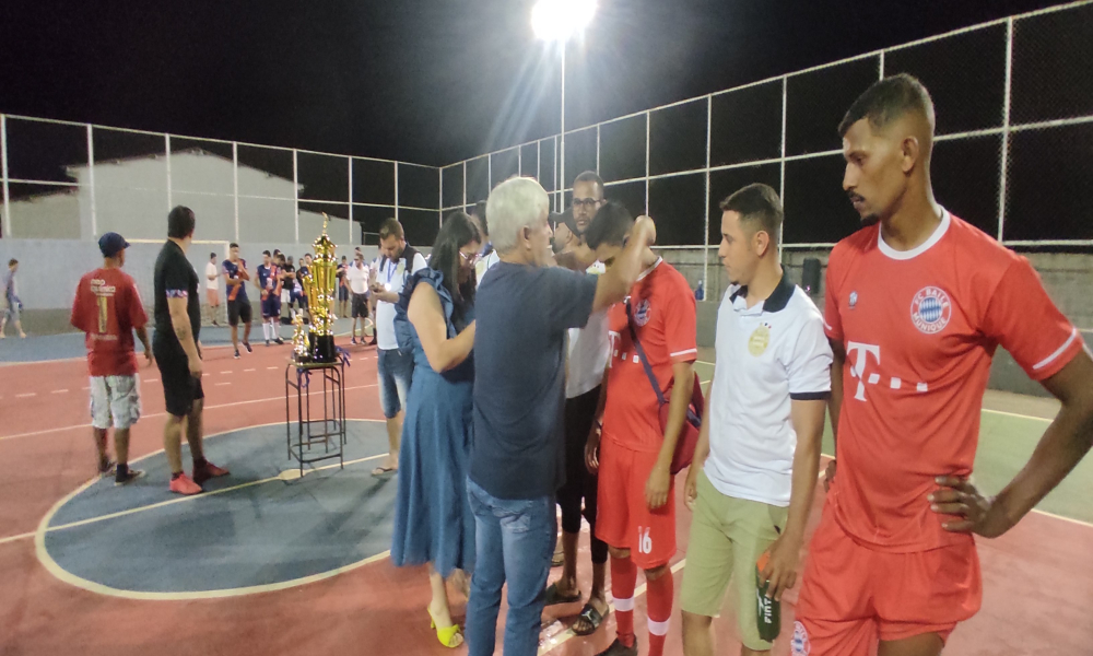
[[[90,476],[81,336],[0,342],[0,654],[465,653],[445,649],[428,630],[424,569],[399,570],[387,558],[397,481],[369,475],[386,452],[374,348],[338,340],[352,353],[344,469],[333,460],[295,478],[283,423],[289,347],[258,340],[252,355],[233,360],[226,330],[203,329],[202,340],[207,452],[232,476],[196,497],[166,491],[154,367],[141,371],[144,417],[130,457],[149,473],[116,489]],[[698,367],[708,380],[713,367]],[[997,491],[1018,471],[1056,410],[1050,400],[988,395],[976,461],[984,489]],[[831,448],[828,436],[824,453]],[[1038,512],[1000,539],[979,540],[983,610],[957,628],[947,654],[1093,654],[1091,500],[1086,458]],[[822,502],[821,485],[811,528]],[[680,503],[677,590],[689,525]],[[587,538],[583,549],[587,591]],[[453,599],[461,620],[463,601]],[[792,590],[784,631],[795,600]],[[592,639],[567,631],[565,616],[579,609],[546,610],[541,654],[590,655],[610,643],[610,617]],[[639,601],[644,644],[643,611]],[[732,612],[715,622],[721,654],[739,653]],[[669,653],[681,654],[678,610],[671,633]],[[788,641],[775,654],[788,654]]]

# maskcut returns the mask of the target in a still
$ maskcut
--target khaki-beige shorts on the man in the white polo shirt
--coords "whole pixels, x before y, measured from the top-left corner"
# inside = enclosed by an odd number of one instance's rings
[[[769,649],[772,643],[756,628],[755,562],[785,530],[788,514],[789,508],[721,494],[700,472],[680,607],[707,618],[720,616],[731,579],[741,642],[755,652]]]

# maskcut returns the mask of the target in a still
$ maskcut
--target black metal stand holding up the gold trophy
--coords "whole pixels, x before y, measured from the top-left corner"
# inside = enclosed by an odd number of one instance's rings
[[[322,418],[312,417],[312,387],[322,380]],[[289,459],[304,465],[338,458],[345,467],[345,365],[341,362],[290,362],[284,370],[284,431]],[[296,440],[292,435],[291,390],[296,390]],[[314,390],[318,391],[318,390]],[[322,450],[319,452],[319,445]],[[313,454],[312,447],[315,447]],[[306,455],[305,455],[306,450]]]

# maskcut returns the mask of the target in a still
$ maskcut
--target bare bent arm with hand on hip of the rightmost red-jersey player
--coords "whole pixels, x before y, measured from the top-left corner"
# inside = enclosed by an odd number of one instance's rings
[[[1093,360],[1089,352],[1079,352],[1043,384],[1062,408],[1032,458],[994,499],[983,496],[967,479],[940,477],[941,490],[930,494],[930,507],[956,517],[942,528],[997,538],[1013,528],[1089,453],[1093,446]]]

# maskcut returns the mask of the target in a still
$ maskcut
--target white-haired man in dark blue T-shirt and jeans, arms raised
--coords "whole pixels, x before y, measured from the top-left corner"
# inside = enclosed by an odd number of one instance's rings
[[[471,656],[494,653],[506,581],[505,654],[538,649],[557,537],[554,500],[565,479],[566,330],[623,300],[640,273],[642,253],[656,239],[653,220],[643,216],[610,272],[553,267],[549,204],[539,183],[512,178],[486,206],[501,261],[475,301],[474,446],[467,482],[479,538],[467,610]],[[513,519],[502,523],[503,515]]]

